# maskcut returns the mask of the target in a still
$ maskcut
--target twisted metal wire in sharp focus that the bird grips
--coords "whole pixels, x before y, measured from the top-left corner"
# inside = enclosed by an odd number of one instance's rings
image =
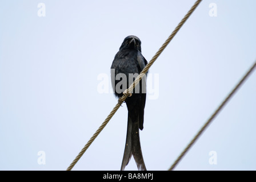
[[[184,16],[184,18],[181,20],[181,22],[178,24],[178,26],[174,29],[174,31],[171,33],[169,38],[163,43],[162,47],[159,48],[158,52],[155,53],[155,56],[149,61],[149,63],[146,65],[146,67],[142,70],[142,72],[139,74],[139,76],[134,80],[133,84],[130,85],[128,89],[125,90],[125,93],[121,98],[118,100],[118,104],[115,105],[114,109],[111,111],[111,113],[108,115],[108,117],[105,119],[105,121],[102,123],[102,125],[99,127],[99,129],[95,132],[93,137],[90,138],[90,140],[87,142],[85,147],[79,152],[78,156],[73,160],[73,162],[70,164],[69,168],[67,168],[67,171],[70,171],[75,164],[78,162],[78,160],[81,158],[81,156],[85,153],[87,148],[89,148],[90,144],[93,143],[94,139],[98,136],[99,133],[103,130],[103,128],[107,125],[107,123],[110,121],[110,119],[113,117],[115,112],[119,109],[122,102],[126,100],[127,96],[129,96],[129,93],[132,93],[132,90],[135,88],[135,86],[138,84],[139,80],[145,75],[145,73],[149,70],[151,65],[157,60],[158,56],[163,52],[163,49],[166,48],[166,46],[170,43],[171,39],[174,38],[174,36],[177,34],[179,29],[182,27],[182,25],[186,22],[186,20],[189,18],[189,16],[193,13],[195,8],[199,5],[199,3],[202,0],[198,0],[195,2],[195,4],[191,7],[191,9],[187,12],[187,14]]]

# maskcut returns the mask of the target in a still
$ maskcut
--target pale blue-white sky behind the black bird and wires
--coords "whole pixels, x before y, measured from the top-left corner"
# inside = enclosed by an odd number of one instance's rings
[[[66,170],[117,103],[98,76],[110,75],[123,39],[138,36],[150,61],[194,2],[1,1],[0,169]],[[202,1],[150,68],[159,86],[140,132],[148,170],[169,169],[254,63],[255,7]],[[256,170],[255,110],[253,72],[175,170]],[[123,104],[73,170],[119,170],[126,127]],[[133,158],[126,169],[137,170]]]

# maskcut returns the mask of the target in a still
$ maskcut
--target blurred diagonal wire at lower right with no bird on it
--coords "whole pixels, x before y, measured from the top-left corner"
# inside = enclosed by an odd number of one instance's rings
[[[251,66],[249,71],[245,74],[245,76],[242,77],[242,79],[238,82],[238,84],[235,86],[235,88],[229,93],[229,95],[225,98],[224,101],[222,101],[221,105],[214,111],[213,115],[208,119],[208,121],[203,125],[201,130],[198,131],[197,135],[191,140],[191,142],[187,145],[187,147],[182,151],[181,155],[178,156],[178,158],[175,160],[173,165],[170,167],[169,171],[172,171],[175,166],[180,162],[180,160],[183,158],[183,156],[186,154],[186,152],[190,149],[190,147],[195,143],[195,141],[199,138],[199,136],[205,131],[206,127],[210,125],[210,123],[213,121],[213,119],[216,117],[216,115],[221,111],[221,109],[226,105],[227,101],[230,100],[230,98],[234,95],[234,93],[238,90],[238,88],[243,84],[243,82],[246,80],[247,77],[249,77],[250,73],[253,72],[253,69],[256,67],[256,61]]]

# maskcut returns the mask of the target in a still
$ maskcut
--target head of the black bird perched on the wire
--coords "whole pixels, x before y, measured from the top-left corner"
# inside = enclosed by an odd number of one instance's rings
[[[119,50],[121,49],[136,49],[141,52],[141,40],[137,36],[130,35],[123,40],[123,43]]]

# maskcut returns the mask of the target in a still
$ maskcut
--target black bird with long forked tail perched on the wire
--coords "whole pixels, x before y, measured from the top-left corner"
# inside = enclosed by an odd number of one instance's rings
[[[129,88],[146,64],[147,60],[141,53],[141,40],[137,36],[127,36],[111,65],[111,82],[115,96],[123,96],[123,91]],[[139,141],[139,129],[143,129],[146,75],[135,87],[131,97],[127,97],[125,102],[128,109],[128,124],[121,170],[125,169],[133,155],[138,169],[145,171],[146,166],[142,156],[141,142]]]

